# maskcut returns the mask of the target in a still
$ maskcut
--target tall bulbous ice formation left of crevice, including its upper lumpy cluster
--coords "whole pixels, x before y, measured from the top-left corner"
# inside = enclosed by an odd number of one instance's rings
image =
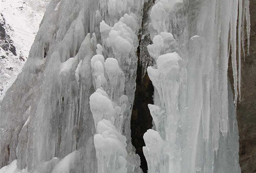
[[[99,55],[91,59],[96,92],[90,96],[91,111],[97,129],[94,142],[98,172],[140,170],[139,156],[132,153],[131,149],[128,152],[125,150],[131,147],[131,142],[127,142],[127,138],[122,135],[127,128],[125,121],[131,116],[131,97],[128,95],[134,94],[131,85],[135,85],[133,73],[136,69],[133,65],[138,47],[137,22],[135,15],[125,13],[113,27],[105,21],[99,24],[102,46],[99,45]]]

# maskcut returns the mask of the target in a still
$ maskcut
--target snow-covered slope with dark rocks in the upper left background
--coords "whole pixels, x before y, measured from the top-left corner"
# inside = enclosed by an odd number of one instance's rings
[[[0,100],[29,55],[49,1],[0,1]]]

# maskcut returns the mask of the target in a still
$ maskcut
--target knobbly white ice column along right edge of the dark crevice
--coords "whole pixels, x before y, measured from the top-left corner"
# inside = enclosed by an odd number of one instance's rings
[[[149,54],[156,62],[154,67],[147,68],[155,88],[155,104],[149,104],[155,130],[147,130],[143,136],[146,144],[143,152],[149,172],[179,172],[181,169],[178,164],[181,151],[175,144],[179,119],[177,102],[180,92],[181,58],[177,53],[168,53],[165,50],[175,44],[171,33],[162,32],[156,35],[153,44],[148,46]]]

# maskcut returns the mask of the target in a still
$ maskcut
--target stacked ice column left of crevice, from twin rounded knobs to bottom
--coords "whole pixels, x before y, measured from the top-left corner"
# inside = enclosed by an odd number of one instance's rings
[[[90,108],[93,112],[95,128],[94,136],[98,172],[127,172],[126,138],[121,134],[123,127],[123,112],[126,108],[127,96],[112,102],[113,96],[123,92],[124,75],[116,59],[104,59],[103,55],[94,55],[91,59],[93,84],[96,91],[90,96]],[[105,78],[107,73],[107,79]],[[117,88],[119,86],[119,88]],[[105,90],[111,95],[105,92]],[[115,90],[115,92],[114,92]],[[115,93],[115,94],[114,94]],[[119,104],[118,104],[119,103]]]

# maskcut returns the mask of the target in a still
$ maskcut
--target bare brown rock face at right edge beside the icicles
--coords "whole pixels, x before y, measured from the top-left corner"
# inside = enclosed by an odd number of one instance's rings
[[[239,162],[242,172],[256,172],[256,1],[250,1],[250,55],[241,64],[241,100],[237,104]],[[245,47],[247,49],[247,47]]]

